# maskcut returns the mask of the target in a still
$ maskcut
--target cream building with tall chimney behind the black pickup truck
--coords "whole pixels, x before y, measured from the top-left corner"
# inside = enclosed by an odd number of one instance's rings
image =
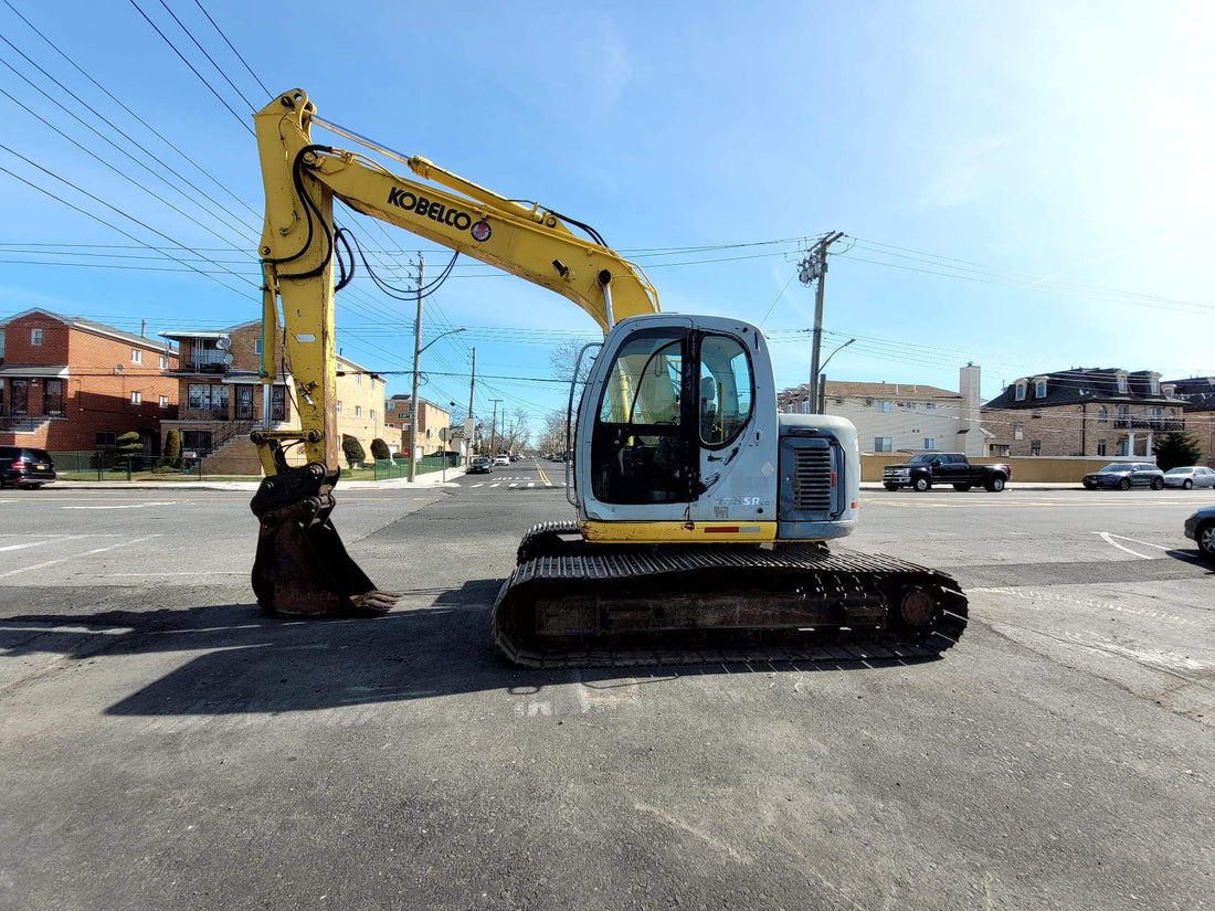
[[[861,452],[963,452],[983,455],[979,426],[981,370],[967,364],[959,372],[955,392],[915,383],[843,383],[827,380],[823,413],[847,418],[857,428]],[[786,414],[810,414],[809,386],[786,389],[776,396]]]

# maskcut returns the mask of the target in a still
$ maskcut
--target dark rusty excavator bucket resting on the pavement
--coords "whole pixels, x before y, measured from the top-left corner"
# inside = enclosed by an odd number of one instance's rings
[[[253,590],[266,613],[350,617],[385,613],[399,595],[380,592],[346,553],[329,514],[335,476],[310,463],[261,482]]]

